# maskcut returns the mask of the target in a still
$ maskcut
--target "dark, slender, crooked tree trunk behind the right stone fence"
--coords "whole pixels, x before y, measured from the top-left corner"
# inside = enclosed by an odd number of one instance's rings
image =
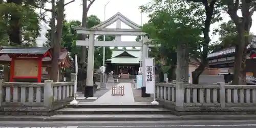
[[[201,57],[201,63],[199,67],[192,72],[192,83],[193,84],[199,84],[199,76],[203,73],[205,66],[207,65],[207,55],[209,51],[209,42],[210,42],[210,37],[209,37],[209,31],[210,31],[210,24],[211,24],[211,19],[212,15],[214,13],[214,5],[216,3],[216,0],[212,0],[210,4],[208,4],[207,1],[203,2],[204,8],[205,8],[205,13],[206,13],[206,19],[204,20],[204,29],[203,29],[203,34],[204,34],[204,43],[203,45],[203,53]]]

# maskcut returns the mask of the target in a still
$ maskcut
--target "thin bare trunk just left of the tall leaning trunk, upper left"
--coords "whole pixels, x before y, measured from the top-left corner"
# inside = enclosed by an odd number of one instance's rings
[[[56,8],[55,8],[55,1],[52,0],[52,18],[51,18],[51,48],[54,47],[55,44],[55,18],[56,18]]]

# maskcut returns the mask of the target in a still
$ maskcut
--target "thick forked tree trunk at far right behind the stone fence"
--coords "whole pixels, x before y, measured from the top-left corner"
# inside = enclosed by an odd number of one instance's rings
[[[255,0],[247,1],[221,1],[233,23],[236,25],[238,32],[238,44],[236,44],[236,54],[234,56],[234,75],[232,84],[246,84],[245,77],[245,60],[246,46],[250,43],[249,33],[252,26],[252,18],[255,11]],[[238,16],[238,11],[241,11],[242,16]]]

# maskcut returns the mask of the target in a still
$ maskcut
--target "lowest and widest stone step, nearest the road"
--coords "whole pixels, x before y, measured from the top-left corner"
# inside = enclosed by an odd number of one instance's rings
[[[162,114],[89,114],[89,115],[54,115],[45,118],[44,121],[160,121],[181,120],[175,115]]]

